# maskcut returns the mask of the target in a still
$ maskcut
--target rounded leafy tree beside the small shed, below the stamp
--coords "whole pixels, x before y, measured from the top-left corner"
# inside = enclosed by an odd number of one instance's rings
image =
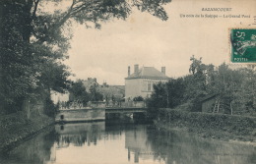
[[[242,95],[241,90],[246,89],[242,85],[247,81],[245,75],[246,73],[243,69],[231,70],[225,63],[219,66],[217,71],[212,74],[207,90],[209,94],[219,95],[216,102],[217,111],[233,114],[234,103],[237,102],[239,95]]]

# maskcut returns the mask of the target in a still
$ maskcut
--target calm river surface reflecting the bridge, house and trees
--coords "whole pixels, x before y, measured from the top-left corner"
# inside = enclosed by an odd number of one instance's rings
[[[55,125],[2,154],[0,163],[252,164],[256,148],[147,125],[96,122]]]

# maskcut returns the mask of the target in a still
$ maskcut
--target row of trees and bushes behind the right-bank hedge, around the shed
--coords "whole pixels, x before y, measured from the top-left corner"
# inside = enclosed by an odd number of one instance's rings
[[[218,95],[217,105],[228,114],[256,113],[256,73],[253,67],[230,69],[205,65],[202,58],[191,57],[190,75],[158,83],[148,99],[150,107],[177,106],[201,110],[201,100],[207,95]]]

